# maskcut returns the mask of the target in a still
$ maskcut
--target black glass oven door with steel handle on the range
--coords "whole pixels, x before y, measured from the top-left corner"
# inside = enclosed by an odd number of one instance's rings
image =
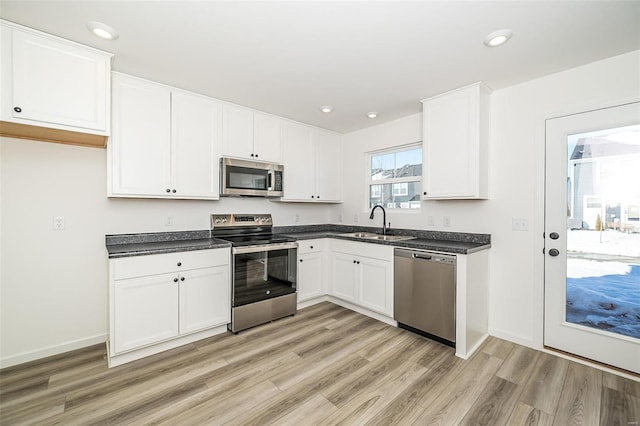
[[[297,250],[295,242],[234,247],[231,306],[295,293]]]

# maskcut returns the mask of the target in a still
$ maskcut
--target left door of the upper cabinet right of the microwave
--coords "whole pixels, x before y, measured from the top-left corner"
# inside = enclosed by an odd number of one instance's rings
[[[285,123],[283,199],[316,200],[315,156],[313,129],[296,123]]]

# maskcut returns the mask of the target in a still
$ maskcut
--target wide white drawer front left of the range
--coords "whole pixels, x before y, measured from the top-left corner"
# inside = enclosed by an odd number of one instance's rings
[[[113,279],[228,265],[230,256],[229,249],[222,248],[112,259]]]

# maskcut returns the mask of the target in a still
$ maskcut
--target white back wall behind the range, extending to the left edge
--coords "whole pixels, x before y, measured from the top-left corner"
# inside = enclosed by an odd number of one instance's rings
[[[211,213],[329,221],[321,204],[109,199],[106,187],[106,150],[0,138],[0,366],[105,340],[105,234],[209,229]]]

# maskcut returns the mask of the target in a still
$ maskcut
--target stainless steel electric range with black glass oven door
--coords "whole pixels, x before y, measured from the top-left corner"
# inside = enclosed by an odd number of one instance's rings
[[[211,215],[211,235],[232,245],[234,333],[296,313],[298,243],[272,226],[270,214]]]

